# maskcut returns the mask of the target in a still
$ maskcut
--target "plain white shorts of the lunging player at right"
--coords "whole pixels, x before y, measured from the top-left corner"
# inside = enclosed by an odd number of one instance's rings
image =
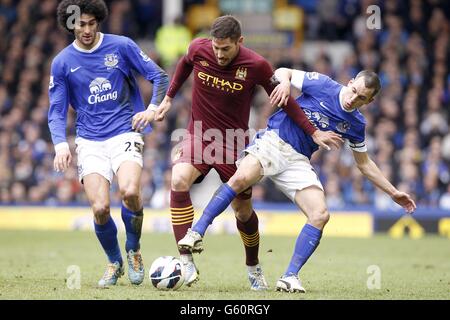
[[[309,159],[298,153],[275,132],[266,131],[244,151],[259,160],[264,176],[268,176],[293,202],[297,190],[317,186],[323,191]],[[236,164],[239,165],[239,161]]]

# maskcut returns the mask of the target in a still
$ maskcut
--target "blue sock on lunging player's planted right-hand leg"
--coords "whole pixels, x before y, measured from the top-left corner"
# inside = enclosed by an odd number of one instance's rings
[[[302,266],[316,250],[321,237],[321,230],[310,224],[305,224],[295,243],[294,254],[285,272],[286,275],[291,273],[297,275],[300,272]]]

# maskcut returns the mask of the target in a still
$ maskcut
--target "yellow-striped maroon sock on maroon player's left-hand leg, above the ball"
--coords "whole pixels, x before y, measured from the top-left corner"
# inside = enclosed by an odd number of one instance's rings
[[[170,191],[170,214],[172,216],[173,233],[178,243],[186,235],[194,221],[194,208],[189,191]],[[180,254],[190,253],[185,249],[178,251]]]

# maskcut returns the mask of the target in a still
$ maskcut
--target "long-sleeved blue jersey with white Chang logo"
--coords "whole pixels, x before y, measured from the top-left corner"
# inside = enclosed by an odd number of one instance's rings
[[[69,104],[76,111],[76,134],[101,141],[132,131],[135,113],[144,111],[133,71],[153,83],[151,103],[159,105],[168,87],[167,74],[134,41],[100,33],[98,44],[83,50],[75,41],[51,66],[48,125],[53,143],[66,142]],[[148,127],[144,132],[148,133]]]

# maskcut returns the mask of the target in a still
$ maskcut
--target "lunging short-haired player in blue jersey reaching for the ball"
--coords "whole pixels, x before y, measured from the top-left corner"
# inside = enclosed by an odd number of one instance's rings
[[[367,153],[366,121],[358,109],[373,101],[379,92],[380,80],[376,73],[361,71],[347,86],[317,72],[282,68],[275,75],[280,84],[271,94],[272,104],[286,102],[291,84],[299,89],[302,94],[296,100],[310,121],[321,130],[332,130],[347,139],[361,173],[406,212],[415,210],[416,204],[411,197],[397,190]],[[280,109],[269,118],[266,130],[245,149],[246,156],[236,173],[217,190],[199,221],[178,245],[202,251],[202,238],[213,219],[228,207],[236,194],[268,176],[307,217],[289,266],[277,281],[276,289],[306,292],[298,273],[319,245],[329,219],[322,184],[309,162],[317,149],[317,144]]]

